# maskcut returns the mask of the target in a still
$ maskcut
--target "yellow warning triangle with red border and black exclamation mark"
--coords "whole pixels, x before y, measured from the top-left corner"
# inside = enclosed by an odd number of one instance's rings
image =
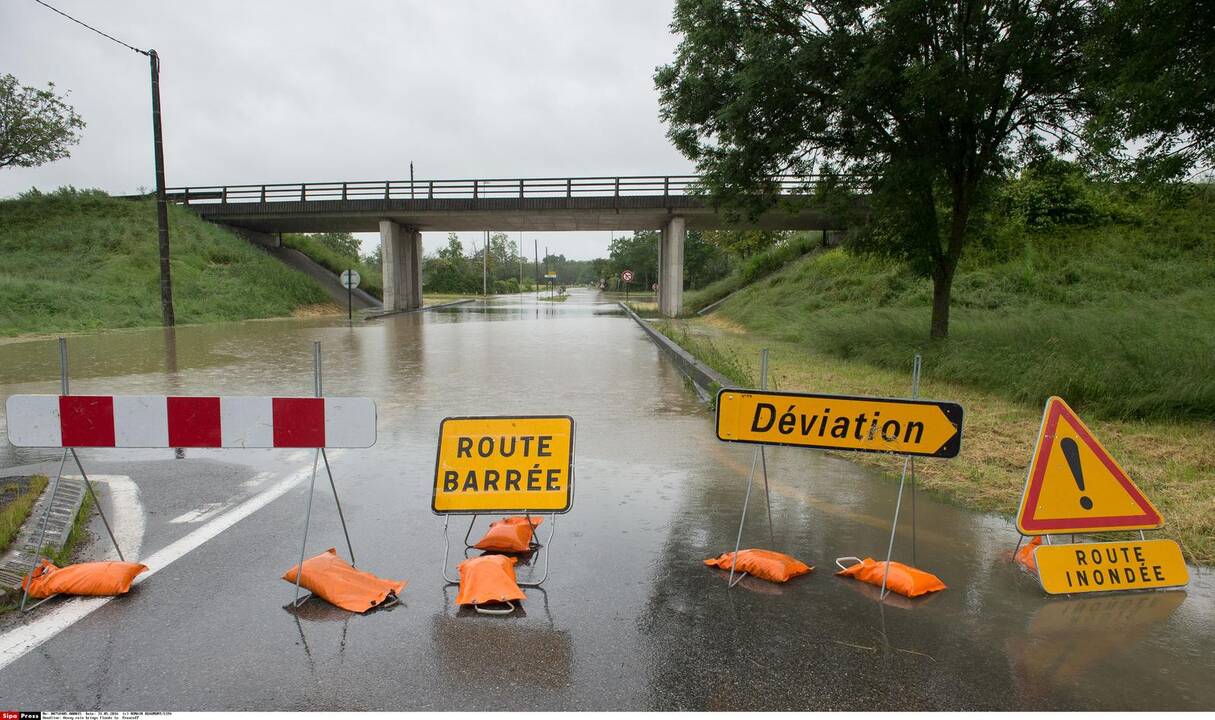
[[[1163,525],[1160,512],[1075,410],[1062,398],[1046,401],[1017,528],[1027,535],[1046,535]]]

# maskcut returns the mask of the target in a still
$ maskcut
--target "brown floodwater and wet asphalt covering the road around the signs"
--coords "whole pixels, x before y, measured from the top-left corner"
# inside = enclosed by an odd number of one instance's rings
[[[744,546],[790,552],[815,572],[728,590],[701,561],[733,549],[753,448],[717,441],[711,409],[633,321],[590,291],[354,327],[326,318],[78,336],[72,392],[310,395],[313,340],[326,393],[378,404],[377,446],[329,458],[358,566],[407,580],[402,603],[366,616],[318,600],[284,610],[292,586],[279,576],[298,560],[307,501],[299,482],[0,667],[0,705],[1215,708],[1209,571],[1191,568],[1183,591],[1051,599],[1010,561],[1010,522],[921,494],[915,545],[908,498],[895,559],[914,559],[949,589],[878,603],[876,590],[833,577],[833,560],[885,552],[897,487],[815,450],[768,450],[772,531],[757,482],[744,533]],[[55,342],[0,345],[0,387],[57,392]],[[445,523],[429,497],[435,442],[445,416],[514,413],[576,419],[576,497],[542,526],[542,539],[555,527],[543,589],[527,590],[514,616],[479,616],[458,610],[443,580]],[[312,464],[299,450],[188,455],[81,453],[92,472],[139,486],[143,557]],[[0,474],[53,470],[57,459],[5,446]],[[343,548],[321,477],[310,555]],[[450,568],[467,522],[447,529]],[[542,566],[533,559],[520,574]],[[0,647],[43,612],[0,625]]]

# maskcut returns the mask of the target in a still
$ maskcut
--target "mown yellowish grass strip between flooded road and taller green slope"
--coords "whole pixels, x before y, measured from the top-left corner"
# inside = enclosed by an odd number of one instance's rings
[[[902,368],[894,362],[891,367],[875,367],[861,358],[840,358],[801,342],[747,333],[714,316],[669,321],[660,329],[740,385],[757,385],[759,350],[768,347],[769,387],[887,397],[910,395],[910,355],[902,358]],[[959,382],[927,358],[921,396],[961,403],[966,421],[961,454],[950,460],[917,461],[917,487],[965,508],[1015,516],[1041,421],[1041,406]],[[1188,561],[1215,565],[1215,426],[1175,420],[1094,421],[1083,409],[1078,412],[1164,515],[1163,534],[1181,543]],[[894,458],[868,453],[840,455],[898,480],[900,464]]]

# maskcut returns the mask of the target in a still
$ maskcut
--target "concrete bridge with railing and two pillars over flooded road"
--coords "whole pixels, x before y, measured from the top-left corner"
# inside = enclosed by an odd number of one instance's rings
[[[819,180],[772,178],[780,202],[756,219],[712,206],[691,175],[177,187],[169,198],[253,232],[379,231],[390,311],[422,307],[422,231],[659,229],[659,307],[673,317],[683,310],[688,229],[841,229],[843,219],[813,199]]]

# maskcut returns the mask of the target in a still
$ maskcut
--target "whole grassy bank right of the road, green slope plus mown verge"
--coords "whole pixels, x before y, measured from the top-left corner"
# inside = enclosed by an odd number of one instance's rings
[[[1006,516],[1058,395],[1160,509],[1164,534],[1215,563],[1215,198],[1140,200],[1117,221],[996,245],[963,261],[946,341],[927,338],[928,280],[843,250],[666,330],[746,385],[769,347],[784,390],[905,397],[922,353],[922,396],[961,402],[966,427],[959,458],[917,465],[921,487]],[[850,458],[897,472],[888,458]]]

